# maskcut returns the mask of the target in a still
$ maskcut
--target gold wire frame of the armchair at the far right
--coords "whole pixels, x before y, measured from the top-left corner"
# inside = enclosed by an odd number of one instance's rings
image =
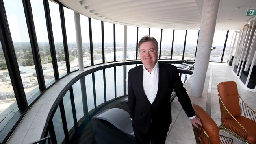
[[[217,89],[218,89],[218,85],[217,85]],[[222,100],[221,100],[221,97],[220,97],[220,94],[219,94],[219,90],[217,90],[218,91],[218,96],[219,96],[219,104],[220,104],[220,109],[221,109],[221,125],[219,126],[219,130],[220,131],[223,131],[223,132],[225,132],[225,133],[228,133],[228,134],[230,134],[230,135],[232,135],[233,137],[235,137],[237,140],[239,140],[240,142],[245,142],[245,143],[247,143],[247,144],[249,144],[249,142],[246,140],[246,138],[247,138],[247,134],[248,134],[248,132],[247,132],[247,130],[236,120],[236,118],[234,118],[234,116],[232,116],[232,114],[228,111],[228,109],[226,109],[226,107],[225,107],[225,105],[224,105],[224,103],[222,102]],[[243,111],[241,111],[241,105],[245,105],[247,108],[249,108],[250,109],[250,111],[251,112],[253,112],[253,113],[255,113],[255,111],[253,111],[244,101],[243,101],[243,99],[240,97],[240,95],[238,94],[238,97],[239,97],[239,106],[240,106],[240,112],[241,112],[241,115],[243,116]],[[223,108],[224,107],[224,108]],[[233,120],[235,120],[235,122],[245,131],[245,133],[243,134],[243,137],[242,136],[240,136],[240,135],[238,135],[236,132],[234,132],[234,131],[232,131],[231,129],[229,129],[229,128],[227,128],[226,126],[224,126],[223,124],[224,124],[224,122],[223,122],[223,113],[224,113],[224,111],[226,111],[229,115],[230,115],[230,117],[233,119]],[[246,117],[246,116],[245,116]],[[255,117],[255,116],[254,116]],[[255,121],[255,118],[254,118],[254,121]]]

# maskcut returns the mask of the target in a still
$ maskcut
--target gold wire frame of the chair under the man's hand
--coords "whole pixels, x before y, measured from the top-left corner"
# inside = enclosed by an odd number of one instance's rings
[[[197,144],[213,144],[213,142],[211,141],[211,138],[206,133],[204,128],[200,125],[198,125],[198,126],[199,126],[199,128],[196,128],[194,125],[192,125],[193,131],[194,131],[194,134],[195,134],[196,143]],[[198,133],[201,137],[198,135]],[[233,139],[232,138],[226,137],[224,135],[219,135],[219,136],[220,136],[220,143],[221,144],[233,144]]]

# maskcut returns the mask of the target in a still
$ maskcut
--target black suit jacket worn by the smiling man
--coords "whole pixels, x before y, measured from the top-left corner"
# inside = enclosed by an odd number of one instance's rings
[[[143,90],[143,65],[128,72],[128,106],[135,132],[147,133],[151,120],[159,126],[171,124],[170,97],[174,91],[188,117],[195,116],[176,66],[158,62],[158,91],[151,104]]]

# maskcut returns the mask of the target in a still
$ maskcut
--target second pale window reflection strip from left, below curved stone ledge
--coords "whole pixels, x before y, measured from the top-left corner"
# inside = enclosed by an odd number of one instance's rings
[[[68,131],[70,131],[70,129],[74,126],[74,118],[72,114],[72,105],[71,105],[69,90],[63,97],[63,103],[64,103],[64,110],[65,110],[65,116],[67,121],[67,128],[68,128]]]

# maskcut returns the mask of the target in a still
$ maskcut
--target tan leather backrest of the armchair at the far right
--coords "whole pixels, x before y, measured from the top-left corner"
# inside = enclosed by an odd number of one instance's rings
[[[221,82],[218,85],[218,91],[224,106],[232,116],[241,116],[236,83],[234,81]]]

